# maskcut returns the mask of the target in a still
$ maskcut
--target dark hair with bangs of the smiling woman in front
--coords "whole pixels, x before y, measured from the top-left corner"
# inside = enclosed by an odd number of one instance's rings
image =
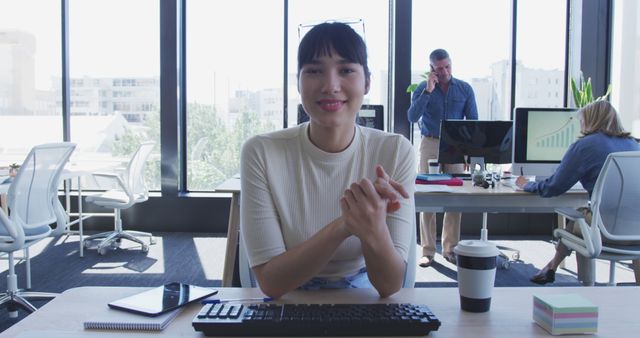
[[[365,77],[370,77],[367,46],[353,28],[341,22],[325,22],[314,26],[298,47],[298,74],[302,66],[322,55],[331,55],[331,48],[349,62],[359,63]]]

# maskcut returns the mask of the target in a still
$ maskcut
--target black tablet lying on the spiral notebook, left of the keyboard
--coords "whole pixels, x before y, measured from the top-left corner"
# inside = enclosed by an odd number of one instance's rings
[[[173,282],[118,299],[108,305],[112,309],[155,317],[216,293],[218,290]]]

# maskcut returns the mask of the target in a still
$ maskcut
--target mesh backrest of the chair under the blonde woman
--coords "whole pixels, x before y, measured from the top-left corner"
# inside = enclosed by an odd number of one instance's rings
[[[593,222],[603,237],[640,240],[640,151],[611,153],[593,189]]]

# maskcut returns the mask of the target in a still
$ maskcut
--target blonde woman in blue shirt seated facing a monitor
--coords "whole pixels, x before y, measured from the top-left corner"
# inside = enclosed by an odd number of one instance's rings
[[[583,107],[578,111],[578,119],[583,136],[569,147],[556,172],[542,182],[529,182],[520,176],[516,180],[519,187],[542,197],[553,197],[567,192],[580,181],[591,197],[600,169],[610,153],[640,150],[638,141],[622,128],[620,117],[609,102],[596,101]],[[591,210],[581,207],[578,211],[585,215],[585,220],[590,224]],[[565,228],[580,236],[580,227],[574,226],[574,222],[568,222]],[[571,249],[558,242],[555,256],[531,277],[531,281],[537,284],[553,283],[558,266],[570,254]]]

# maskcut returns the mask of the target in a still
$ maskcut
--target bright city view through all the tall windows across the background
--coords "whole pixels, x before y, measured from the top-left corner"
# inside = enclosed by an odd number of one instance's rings
[[[300,25],[361,20],[372,71],[365,103],[384,105],[388,112],[389,2],[288,4],[285,88],[282,1],[187,2],[188,190],[213,190],[239,172],[247,138],[283,128],[285,91],[287,126],[297,123]],[[3,161],[21,160],[35,144],[62,140],[59,5],[0,0]],[[41,14],[32,11],[34,6]],[[566,3],[518,1],[518,8],[515,105],[561,107]],[[414,1],[412,82],[421,80],[431,50],[445,48],[453,76],[475,91],[480,119],[510,119],[511,11],[510,0]],[[70,134],[78,144],[74,156],[122,161],[140,142],[154,140],[147,173],[152,189],[160,187],[159,27],[155,0],[69,1]],[[419,135],[417,128],[414,135]]]

